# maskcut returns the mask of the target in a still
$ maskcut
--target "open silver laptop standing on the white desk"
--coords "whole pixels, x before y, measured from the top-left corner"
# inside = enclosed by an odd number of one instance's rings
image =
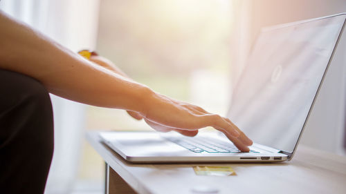
[[[129,162],[282,162],[298,146],[345,28],[346,13],[262,29],[226,117],[253,139],[240,152],[222,133],[113,131],[103,142]]]

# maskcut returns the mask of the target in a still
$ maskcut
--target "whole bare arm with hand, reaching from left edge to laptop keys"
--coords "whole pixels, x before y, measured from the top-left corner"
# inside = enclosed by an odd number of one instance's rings
[[[93,106],[134,111],[156,130],[195,135],[199,128],[212,126],[242,151],[248,151],[247,146],[252,144],[229,119],[159,95],[80,57],[2,12],[0,26],[0,68],[33,77],[50,93]]]

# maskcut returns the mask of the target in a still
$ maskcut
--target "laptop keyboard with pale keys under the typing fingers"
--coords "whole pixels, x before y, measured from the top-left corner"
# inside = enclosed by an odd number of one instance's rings
[[[217,142],[217,139],[207,137],[166,137],[166,139],[194,153],[241,153],[232,143]],[[253,150],[250,152],[259,153]]]

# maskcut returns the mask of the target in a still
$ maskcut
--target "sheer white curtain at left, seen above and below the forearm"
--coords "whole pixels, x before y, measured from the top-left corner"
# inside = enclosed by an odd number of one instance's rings
[[[95,48],[99,0],[8,0],[0,9],[77,52]],[[51,95],[55,151],[46,193],[71,193],[84,137],[85,106]]]

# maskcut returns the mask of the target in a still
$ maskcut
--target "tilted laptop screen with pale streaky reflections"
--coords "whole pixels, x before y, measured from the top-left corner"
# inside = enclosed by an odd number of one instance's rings
[[[258,144],[292,153],[345,14],[263,30],[233,90],[228,118]]]

